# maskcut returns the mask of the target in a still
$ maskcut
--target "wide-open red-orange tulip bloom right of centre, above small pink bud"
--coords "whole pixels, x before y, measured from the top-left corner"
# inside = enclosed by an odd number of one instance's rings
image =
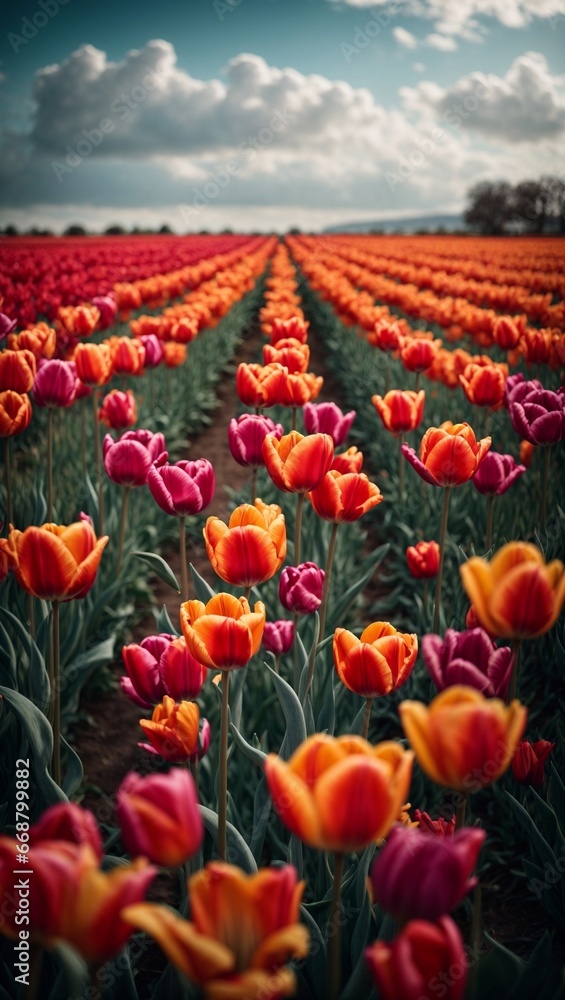
[[[337,469],[331,469],[308,493],[308,499],[318,517],[341,524],[358,521],[384,498],[376,483],[370,482],[364,472],[342,475]]]

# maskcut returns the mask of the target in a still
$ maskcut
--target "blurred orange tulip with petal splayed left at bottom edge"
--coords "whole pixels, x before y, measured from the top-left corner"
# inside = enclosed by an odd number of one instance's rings
[[[155,903],[123,915],[157,941],[202,996],[282,1000],[296,990],[288,961],[308,953],[308,931],[298,923],[303,891],[291,865],[247,875],[209,862],[188,881],[190,921]]]

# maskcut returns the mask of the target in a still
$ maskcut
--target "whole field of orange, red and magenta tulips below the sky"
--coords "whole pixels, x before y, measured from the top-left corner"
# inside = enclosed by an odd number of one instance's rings
[[[0,1000],[565,997],[562,265],[3,242]]]

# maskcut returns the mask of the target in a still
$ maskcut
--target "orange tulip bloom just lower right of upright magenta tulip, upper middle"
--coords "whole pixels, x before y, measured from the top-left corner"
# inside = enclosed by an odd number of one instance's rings
[[[285,493],[308,493],[329,472],[334,443],[329,434],[291,431],[278,441],[267,434],[263,441],[265,466],[275,486]]]

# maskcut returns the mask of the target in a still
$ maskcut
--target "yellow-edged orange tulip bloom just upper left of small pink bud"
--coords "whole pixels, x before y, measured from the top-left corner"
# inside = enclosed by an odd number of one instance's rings
[[[233,511],[229,523],[209,517],[204,528],[214,572],[237,587],[255,587],[278,573],[286,556],[284,515],[277,504],[256,500]]]

